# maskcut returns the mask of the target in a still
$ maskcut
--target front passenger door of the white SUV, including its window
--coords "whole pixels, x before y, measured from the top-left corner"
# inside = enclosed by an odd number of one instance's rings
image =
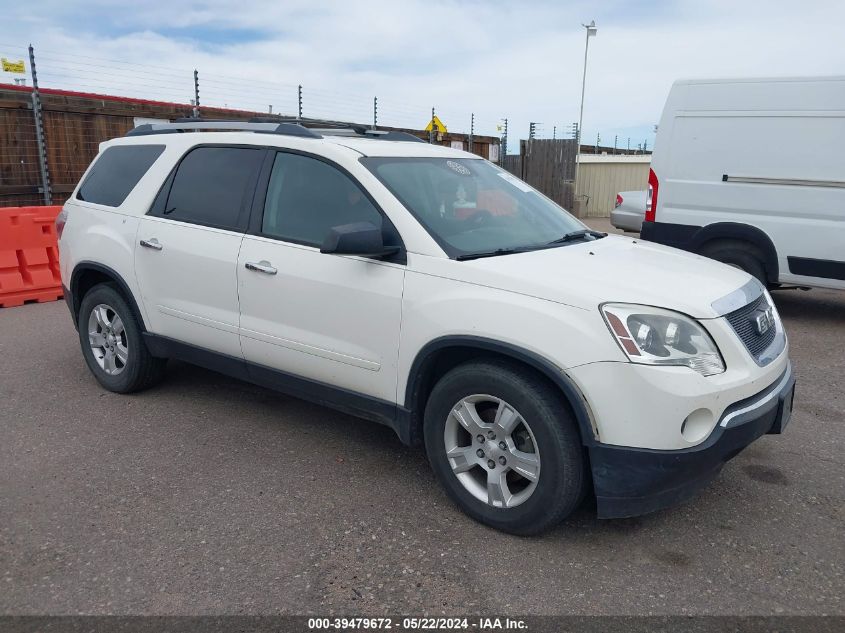
[[[238,258],[241,345],[251,371],[395,402],[404,264],[323,254],[320,245],[331,227],[353,222],[382,226],[388,243],[401,243],[398,234],[330,162],[278,152],[266,172]]]

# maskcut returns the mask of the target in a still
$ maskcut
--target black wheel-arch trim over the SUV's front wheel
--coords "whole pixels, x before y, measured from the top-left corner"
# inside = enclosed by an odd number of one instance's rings
[[[572,382],[563,370],[547,358],[515,345],[494,339],[466,335],[436,338],[424,345],[414,358],[414,362],[411,364],[408,384],[405,387],[405,406],[403,407],[404,412],[407,412],[410,418],[407,421],[408,426],[411,427],[408,429],[408,440],[412,440],[419,432],[419,429],[414,427],[422,425],[424,405],[417,407],[416,400],[420,395],[420,390],[425,387],[426,373],[432,368],[432,363],[437,357],[437,352],[450,348],[493,352],[497,355],[522,362],[539,371],[561,390],[572,407],[580,430],[581,443],[584,446],[592,446],[596,443],[596,433],[588,412],[587,401],[578,387],[575,386],[575,383]],[[405,440],[405,437],[403,437],[403,440]]]

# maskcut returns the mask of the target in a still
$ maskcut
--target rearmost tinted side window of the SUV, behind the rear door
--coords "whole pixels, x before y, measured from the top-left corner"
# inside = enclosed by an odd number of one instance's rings
[[[164,145],[109,147],[94,163],[77,199],[119,207],[163,151]]]

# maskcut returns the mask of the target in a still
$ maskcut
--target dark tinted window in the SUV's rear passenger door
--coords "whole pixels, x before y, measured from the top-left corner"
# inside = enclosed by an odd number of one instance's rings
[[[234,229],[242,226],[263,149],[198,147],[179,163],[161,215]]]

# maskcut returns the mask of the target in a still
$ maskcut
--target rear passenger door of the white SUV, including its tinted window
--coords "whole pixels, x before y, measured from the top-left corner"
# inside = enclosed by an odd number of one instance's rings
[[[168,178],[135,246],[150,332],[242,358],[236,267],[266,153],[195,147]]]

